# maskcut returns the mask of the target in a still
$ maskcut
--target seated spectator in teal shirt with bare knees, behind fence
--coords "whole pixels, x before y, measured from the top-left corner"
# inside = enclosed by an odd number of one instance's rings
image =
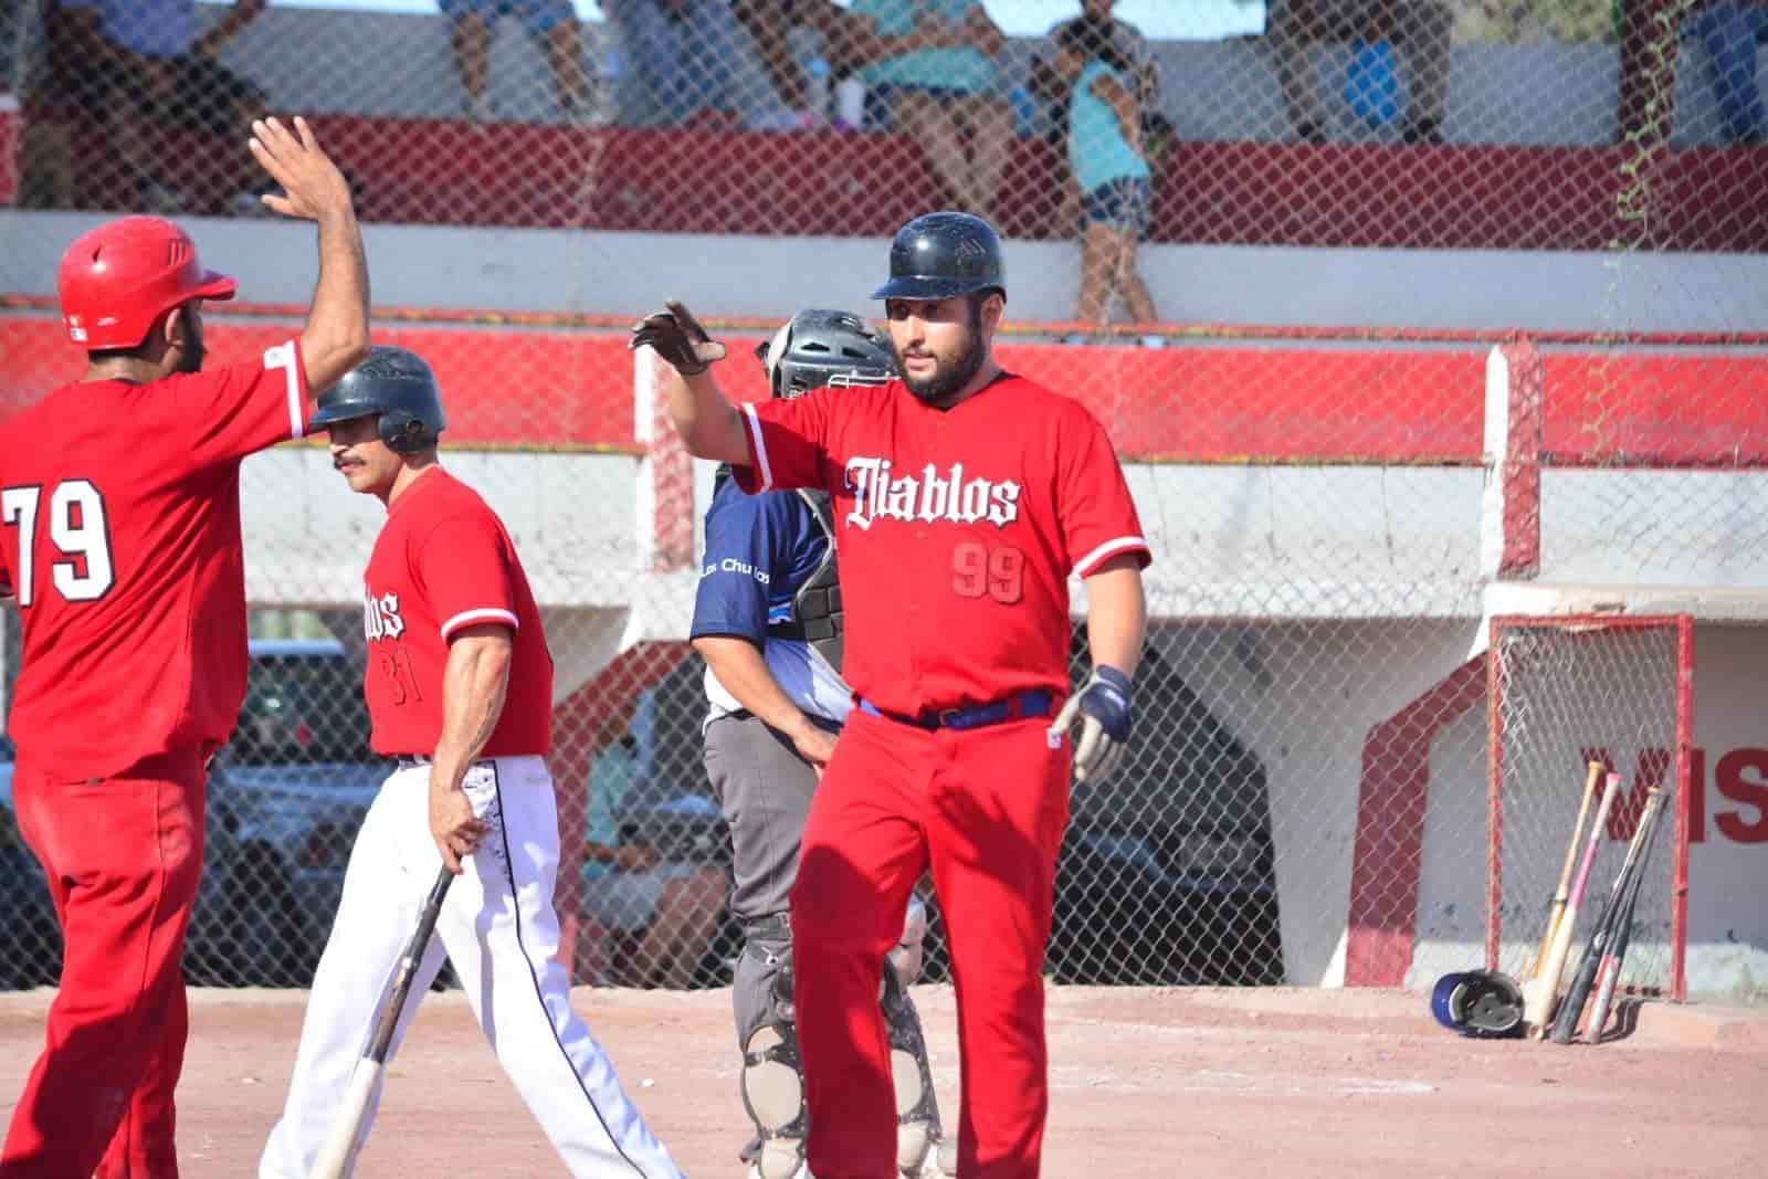
[[[854,0],[852,12],[879,53],[859,71],[866,110],[921,145],[958,209],[992,219],[1013,141],[995,69],[1006,35],[981,0]]]

